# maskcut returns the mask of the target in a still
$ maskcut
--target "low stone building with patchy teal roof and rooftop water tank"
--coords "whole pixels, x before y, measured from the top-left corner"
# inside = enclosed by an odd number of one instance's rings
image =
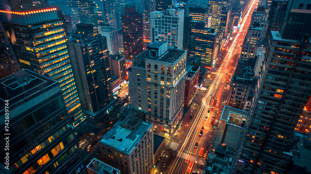
[[[132,110],[120,117],[99,142],[103,162],[121,173],[149,173],[154,165],[152,123]]]

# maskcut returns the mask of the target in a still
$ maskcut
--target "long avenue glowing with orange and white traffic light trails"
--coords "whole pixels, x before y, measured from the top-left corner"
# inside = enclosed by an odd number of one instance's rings
[[[251,20],[252,12],[256,7],[257,0],[253,0],[251,5],[246,9],[246,13],[244,14],[245,17],[240,19],[240,28],[233,38],[232,43],[228,40],[225,42],[224,47],[228,48],[228,50],[222,50],[218,56],[218,61],[211,68],[210,73],[212,80],[210,83],[207,83],[209,88],[202,98],[202,105],[199,103],[200,107],[196,108],[197,111],[195,111],[195,117],[193,117],[193,121],[189,125],[188,131],[185,132],[184,139],[177,149],[177,158],[175,158],[173,165],[168,167],[169,174],[188,173],[188,167],[191,168],[190,173],[192,171],[202,173],[206,161],[202,158],[200,150],[203,147],[204,150],[207,150],[207,153],[210,153],[211,143],[213,142],[217,131],[217,127],[215,127],[215,130],[213,130],[214,126],[211,124],[212,117],[215,115],[215,121],[220,120],[220,115],[223,108],[222,103],[228,99],[224,97],[226,92],[224,87],[226,87],[226,83],[230,81],[229,79],[231,79],[232,74],[234,73],[238,59],[238,57],[235,55],[239,55],[241,52],[240,46],[244,41],[249,22]],[[210,80],[206,79],[206,81],[209,82]],[[229,97],[229,95],[227,95],[227,97]],[[201,98],[197,99],[200,100]],[[207,113],[208,110],[210,110],[210,113]],[[204,119],[206,115],[208,115],[207,120]],[[204,126],[203,134],[202,136],[199,136],[202,126]],[[194,147],[196,142],[198,142],[198,145],[197,147]],[[189,166],[191,161],[194,162],[193,166]]]

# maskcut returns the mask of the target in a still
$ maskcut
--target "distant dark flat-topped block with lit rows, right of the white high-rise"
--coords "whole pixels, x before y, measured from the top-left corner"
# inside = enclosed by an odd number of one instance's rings
[[[189,7],[189,16],[192,17],[192,21],[204,21],[205,27],[207,27],[208,7],[191,6]]]

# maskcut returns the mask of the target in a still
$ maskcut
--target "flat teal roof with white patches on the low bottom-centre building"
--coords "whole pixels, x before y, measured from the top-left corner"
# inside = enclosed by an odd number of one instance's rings
[[[142,137],[146,135],[147,131],[151,129],[152,123],[142,121],[142,124],[137,127],[136,131],[132,131],[121,126],[121,122],[127,122],[128,119],[129,117],[115,123],[106,135],[103,136],[103,139],[100,140],[100,143],[129,155]]]

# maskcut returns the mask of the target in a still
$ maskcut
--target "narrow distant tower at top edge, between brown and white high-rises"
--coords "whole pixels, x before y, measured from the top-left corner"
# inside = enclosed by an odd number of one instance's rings
[[[143,2],[143,22],[144,22],[144,46],[150,44],[150,13],[156,11],[156,0],[146,0]]]

